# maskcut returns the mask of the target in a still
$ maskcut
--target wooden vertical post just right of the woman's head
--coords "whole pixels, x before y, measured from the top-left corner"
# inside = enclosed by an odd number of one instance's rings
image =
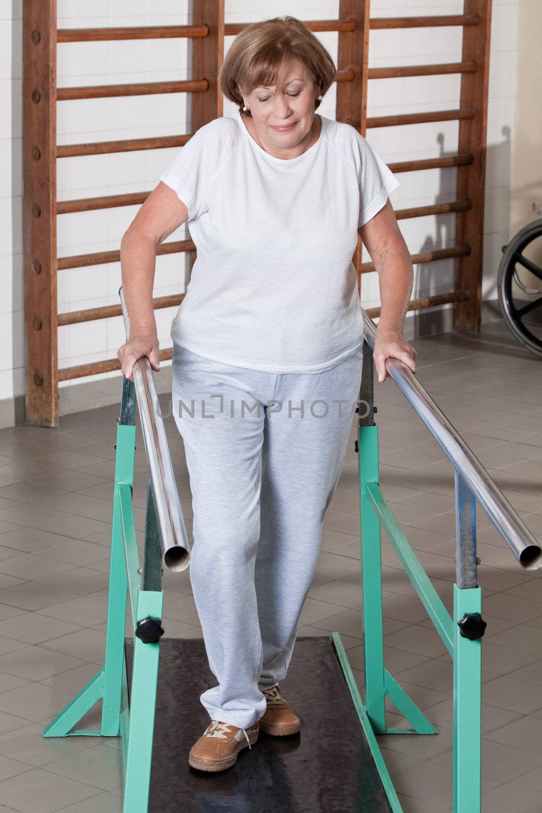
[[[355,20],[353,31],[339,32],[337,70],[353,71],[353,81],[337,83],[336,120],[352,124],[365,136],[367,120],[367,77],[369,57],[369,14],[371,0],[340,0],[339,20]],[[358,291],[362,281],[362,239],[352,258],[358,275]]]

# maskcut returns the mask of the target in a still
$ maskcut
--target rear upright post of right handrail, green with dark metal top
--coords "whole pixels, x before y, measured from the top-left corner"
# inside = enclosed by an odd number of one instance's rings
[[[358,404],[359,515],[362,545],[365,706],[375,733],[386,730],[380,521],[371,506],[368,483],[379,481],[378,427],[373,420],[373,356],[363,344],[362,386]]]

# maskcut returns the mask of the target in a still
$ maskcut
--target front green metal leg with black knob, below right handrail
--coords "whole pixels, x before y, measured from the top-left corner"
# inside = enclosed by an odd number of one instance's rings
[[[457,621],[481,612],[482,590],[453,585],[453,811],[480,811],[482,639],[462,637]],[[461,687],[461,691],[459,691]]]

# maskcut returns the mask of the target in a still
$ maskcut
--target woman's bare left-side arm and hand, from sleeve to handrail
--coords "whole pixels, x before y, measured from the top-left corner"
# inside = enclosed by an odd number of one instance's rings
[[[154,370],[160,369],[153,307],[156,249],[187,220],[187,207],[173,189],[160,181],[120,241],[120,272],[130,318],[130,338],[119,347],[117,357],[123,375],[130,380],[133,380],[133,365],[142,356],[149,356]]]

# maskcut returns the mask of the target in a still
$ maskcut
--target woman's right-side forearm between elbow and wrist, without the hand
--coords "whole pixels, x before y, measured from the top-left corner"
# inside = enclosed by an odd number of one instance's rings
[[[414,268],[406,246],[393,246],[377,268],[380,289],[378,329],[403,332],[414,282]]]

